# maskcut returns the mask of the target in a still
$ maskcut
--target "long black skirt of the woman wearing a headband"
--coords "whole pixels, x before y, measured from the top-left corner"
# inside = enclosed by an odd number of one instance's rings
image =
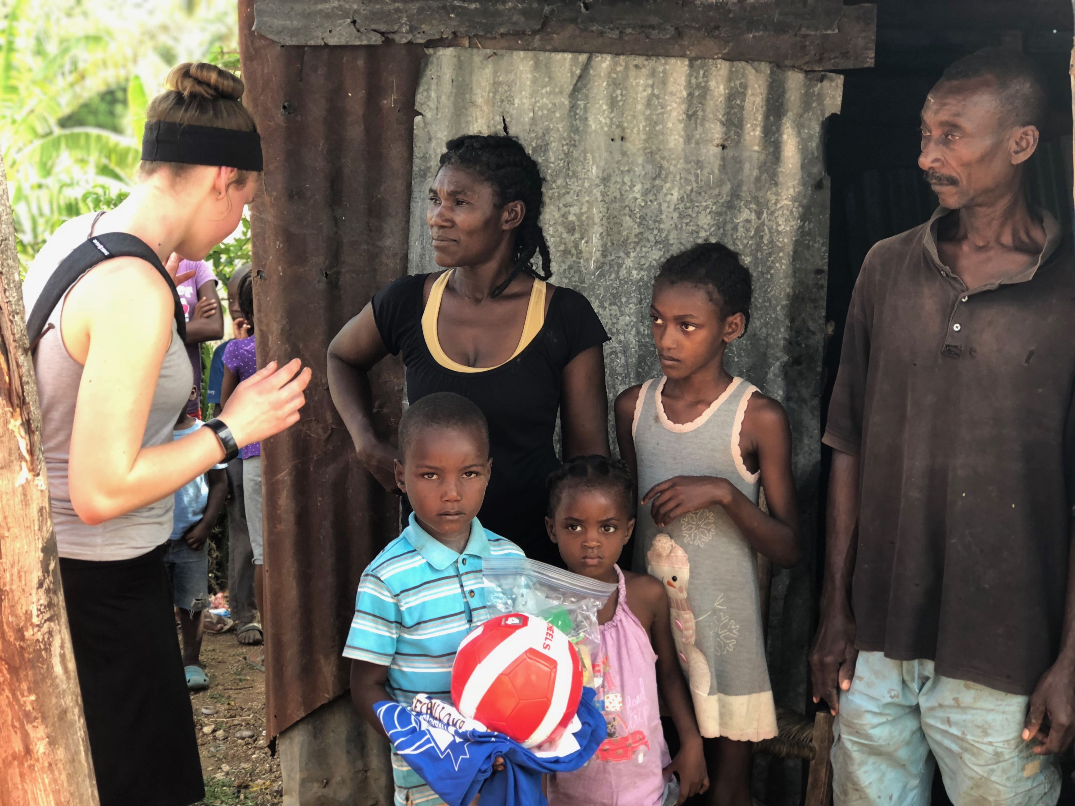
[[[205,795],[162,553],[60,559],[101,806],[187,806]]]

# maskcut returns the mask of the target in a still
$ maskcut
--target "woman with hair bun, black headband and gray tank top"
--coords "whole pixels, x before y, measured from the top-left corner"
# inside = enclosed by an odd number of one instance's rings
[[[191,384],[183,312],[163,263],[173,253],[200,260],[235,229],[258,186],[261,146],[231,73],[182,64],[168,86],[149,105],[130,197],[61,226],[24,285],[101,806],[185,806],[203,796],[161,559],[173,493],[298,420],[310,380],[297,360],[271,362],[218,419],[172,440]]]

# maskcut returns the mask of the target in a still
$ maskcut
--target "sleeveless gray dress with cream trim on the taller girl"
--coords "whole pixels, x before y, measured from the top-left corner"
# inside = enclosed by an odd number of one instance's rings
[[[758,502],[758,474],[740,454],[747,402],[757,389],[733,378],[698,419],[669,420],[661,404],[665,378],[639,392],[631,433],[639,494],[673,476],[718,476]],[[758,556],[721,506],[676,518],[663,530],[639,507],[634,567],[664,582],[672,636],[690,686],[703,736],[759,742],[776,735],[765,665]]]

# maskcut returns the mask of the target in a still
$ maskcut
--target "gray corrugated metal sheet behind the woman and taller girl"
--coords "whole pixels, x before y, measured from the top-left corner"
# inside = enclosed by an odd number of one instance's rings
[[[822,125],[840,109],[841,87],[840,76],[766,63],[450,48],[426,57],[415,100],[408,270],[436,268],[427,188],[445,141],[506,126],[547,181],[553,282],[585,293],[613,337],[613,399],[660,374],[648,326],[660,262],[699,241],[743,255],[755,302],[731,368],[788,408],[807,557],[829,231]],[[800,711],[812,573],[806,564],[777,573],[770,623],[774,693]],[[798,765],[769,777],[759,783],[771,803],[798,790]]]

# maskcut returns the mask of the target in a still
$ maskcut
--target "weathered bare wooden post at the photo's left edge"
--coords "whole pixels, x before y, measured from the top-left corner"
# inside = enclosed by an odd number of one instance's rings
[[[0,160],[0,804],[97,806],[40,434]]]

